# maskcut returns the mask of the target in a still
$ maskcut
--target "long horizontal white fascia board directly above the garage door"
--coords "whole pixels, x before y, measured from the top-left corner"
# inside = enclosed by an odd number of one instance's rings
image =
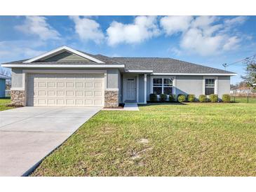
[[[1,67],[22,68],[124,68],[124,64],[1,64]]]

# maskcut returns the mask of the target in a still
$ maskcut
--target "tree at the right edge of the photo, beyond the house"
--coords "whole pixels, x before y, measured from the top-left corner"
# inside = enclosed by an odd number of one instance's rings
[[[256,55],[254,57],[247,58],[245,60],[246,75],[241,76],[243,80],[252,87],[252,84],[256,83]]]

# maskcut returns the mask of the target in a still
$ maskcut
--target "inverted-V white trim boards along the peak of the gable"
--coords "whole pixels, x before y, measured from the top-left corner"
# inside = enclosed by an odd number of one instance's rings
[[[81,52],[78,51],[78,50],[74,50],[73,48],[69,48],[69,47],[67,47],[67,46],[61,46],[60,48],[56,48],[56,49],[54,49],[54,50],[50,50],[50,51],[48,51],[47,53],[44,53],[44,54],[42,54],[42,55],[39,55],[39,56],[34,57],[34,58],[32,58],[32,59],[29,59],[29,60],[26,60],[26,61],[23,62],[23,63],[29,63],[29,62],[34,62],[34,61],[36,61],[36,60],[40,60],[40,59],[43,58],[43,57],[48,57],[48,56],[50,56],[50,55],[53,55],[54,53],[58,53],[58,52],[61,51],[61,50],[67,50],[67,51],[69,51],[69,52],[71,52],[71,53],[74,53],[74,54],[76,54],[76,55],[79,55],[79,56],[81,56],[81,57],[84,57],[84,58],[86,58],[86,59],[88,59],[88,60],[91,60],[91,61],[93,61],[93,62],[105,63],[105,62],[102,62],[102,61],[100,61],[100,60],[95,59],[94,57],[90,57],[89,55],[86,55],[86,54],[84,54],[84,53],[81,53]]]

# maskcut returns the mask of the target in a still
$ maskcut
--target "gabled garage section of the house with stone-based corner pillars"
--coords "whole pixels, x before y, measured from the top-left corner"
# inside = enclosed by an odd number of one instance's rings
[[[11,102],[16,106],[117,107],[124,64],[67,46],[28,60],[6,63],[12,69]]]

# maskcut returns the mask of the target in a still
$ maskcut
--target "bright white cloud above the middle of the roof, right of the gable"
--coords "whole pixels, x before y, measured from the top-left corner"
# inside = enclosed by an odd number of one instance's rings
[[[112,22],[107,29],[107,43],[109,46],[119,43],[141,43],[159,34],[156,16],[137,16],[133,24]]]

